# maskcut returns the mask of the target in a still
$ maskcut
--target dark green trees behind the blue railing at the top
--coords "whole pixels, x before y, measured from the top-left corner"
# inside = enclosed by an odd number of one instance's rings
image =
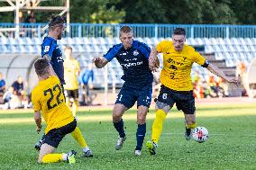
[[[62,1],[42,1],[56,5]],[[0,6],[6,4],[0,2]],[[34,12],[47,22],[49,12]],[[26,14],[23,15],[25,17]],[[14,13],[0,13],[0,22],[14,22]],[[70,22],[256,24],[255,0],[71,0]]]

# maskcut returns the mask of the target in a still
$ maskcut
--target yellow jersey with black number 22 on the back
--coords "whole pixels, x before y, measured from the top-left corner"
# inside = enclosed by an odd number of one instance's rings
[[[74,121],[74,117],[65,103],[58,76],[42,80],[32,90],[34,112],[40,112],[47,126],[45,134]]]

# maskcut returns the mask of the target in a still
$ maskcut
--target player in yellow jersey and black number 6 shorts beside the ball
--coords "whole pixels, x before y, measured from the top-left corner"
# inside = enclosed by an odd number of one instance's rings
[[[185,138],[187,140],[191,138],[191,130],[197,127],[195,98],[190,76],[193,63],[206,67],[210,72],[229,83],[237,84],[236,79],[225,76],[220,69],[209,63],[193,47],[184,44],[185,40],[186,31],[183,28],[177,28],[173,32],[172,41],[163,40],[156,48],[151,49],[149,58],[151,70],[159,67],[157,54],[163,54],[163,68],[160,74],[161,88],[156,103],[156,118],[152,125],[151,141],[146,143],[151,155],[156,154],[163,122],[174,103],[176,103],[178,110],[184,112]]]

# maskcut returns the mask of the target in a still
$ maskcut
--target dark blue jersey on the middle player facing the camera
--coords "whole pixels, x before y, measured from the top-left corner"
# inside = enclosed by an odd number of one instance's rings
[[[126,85],[149,86],[152,85],[153,76],[149,68],[151,49],[144,43],[133,40],[130,49],[124,49],[123,44],[114,45],[104,57],[111,61],[116,58],[123,67],[122,79]]]

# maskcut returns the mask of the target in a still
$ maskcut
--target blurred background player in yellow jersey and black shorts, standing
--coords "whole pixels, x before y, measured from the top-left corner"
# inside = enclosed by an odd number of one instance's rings
[[[64,78],[66,84],[64,88],[66,90],[66,103],[72,107],[73,116],[77,116],[78,112],[78,75],[80,67],[77,59],[72,58],[72,48],[67,46],[64,49]]]

